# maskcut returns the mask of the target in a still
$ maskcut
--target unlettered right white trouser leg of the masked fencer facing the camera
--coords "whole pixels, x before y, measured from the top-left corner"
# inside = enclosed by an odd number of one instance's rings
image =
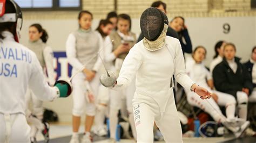
[[[156,124],[163,134],[165,142],[183,142],[181,125],[173,97],[169,98],[165,112],[161,113],[161,118],[156,120]]]

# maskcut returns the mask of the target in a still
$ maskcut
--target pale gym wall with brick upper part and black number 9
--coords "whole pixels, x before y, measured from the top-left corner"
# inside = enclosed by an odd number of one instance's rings
[[[139,34],[140,14],[153,1],[117,1],[117,12],[128,13],[132,18],[132,32]],[[193,48],[202,45],[207,49],[206,66],[214,55],[214,45],[218,40],[233,42],[237,55],[242,61],[250,58],[251,49],[256,45],[256,10],[251,9],[250,0],[172,0],[167,4],[169,21],[174,16],[183,16],[191,37]],[[114,1],[83,0],[83,9],[93,13],[92,28],[98,26],[106,13],[114,10]],[[79,11],[25,11],[21,43],[28,42],[28,28],[40,23],[48,31],[48,45],[55,52],[65,52],[65,42],[69,33],[78,28]],[[189,54],[186,56],[190,56]],[[67,66],[65,61],[62,66]],[[67,74],[65,68],[63,74]],[[67,75],[62,75],[67,76]],[[65,99],[45,102],[44,106],[58,113],[61,122],[71,123],[72,95]]]

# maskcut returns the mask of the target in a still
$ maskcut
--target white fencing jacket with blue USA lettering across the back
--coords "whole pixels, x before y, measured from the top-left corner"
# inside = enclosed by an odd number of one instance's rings
[[[46,101],[59,97],[56,87],[49,87],[36,54],[18,44],[14,35],[4,31],[0,39],[0,113],[25,111],[25,93],[29,86],[35,95]]]

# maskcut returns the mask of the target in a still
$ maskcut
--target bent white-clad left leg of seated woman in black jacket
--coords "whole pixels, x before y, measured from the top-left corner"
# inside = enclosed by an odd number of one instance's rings
[[[220,106],[225,106],[227,119],[233,120],[235,116],[235,105],[237,104],[234,96],[219,91],[213,92],[218,96],[217,104]]]

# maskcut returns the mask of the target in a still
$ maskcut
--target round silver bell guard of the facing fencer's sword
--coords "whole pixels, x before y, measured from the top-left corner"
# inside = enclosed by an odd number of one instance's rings
[[[111,88],[116,84],[117,76],[113,71],[107,70],[100,76],[99,81],[104,87]]]

